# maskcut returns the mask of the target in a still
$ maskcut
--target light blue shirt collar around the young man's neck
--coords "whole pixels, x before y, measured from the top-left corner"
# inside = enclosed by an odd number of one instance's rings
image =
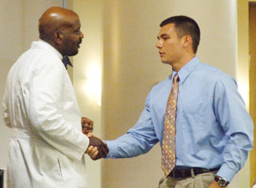
[[[179,79],[180,79],[179,84],[184,83],[185,79],[189,76],[189,74],[191,74],[191,72],[196,68],[196,66],[199,63],[200,63],[199,59],[195,56],[194,58],[191,59],[189,63],[185,64],[185,66],[180,69],[180,71],[178,72]],[[173,70],[171,74],[171,80],[173,80],[176,73],[177,72]]]

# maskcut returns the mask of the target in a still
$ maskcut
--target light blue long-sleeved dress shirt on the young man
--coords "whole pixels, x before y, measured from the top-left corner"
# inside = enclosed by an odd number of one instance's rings
[[[135,126],[117,140],[106,140],[107,158],[127,158],[162,146],[165,109],[175,71],[155,85]],[[253,121],[229,75],[193,58],[179,71],[176,113],[176,166],[217,168],[228,181],[253,147]],[[159,159],[160,162],[160,159]]]

